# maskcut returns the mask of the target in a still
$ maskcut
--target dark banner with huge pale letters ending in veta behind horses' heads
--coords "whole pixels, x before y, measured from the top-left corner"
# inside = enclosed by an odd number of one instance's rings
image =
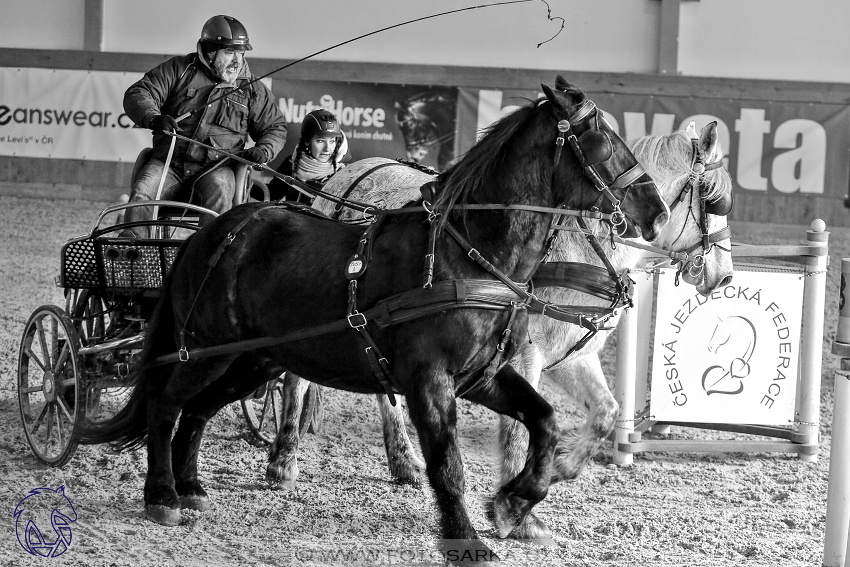
[[[812,102],[773,103],[712,97],[629,95],[588,92],[626,140],[683,129],[697,131],[717,121],[724,160],[736,191],[761,195],[801,194],[844,197],[847,191],[850,106]],[[459,152],[477,132],[536,90],[460,89]],[[768,220],[768,219],[764,219]],[[810,220],[810,219],[809,219]]]

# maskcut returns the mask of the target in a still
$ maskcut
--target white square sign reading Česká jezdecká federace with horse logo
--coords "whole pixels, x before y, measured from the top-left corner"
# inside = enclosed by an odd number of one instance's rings
[[[794,422],[803,305],[796,273],[736,271],[708,297],[663,270],[652,358],[654,420]]]

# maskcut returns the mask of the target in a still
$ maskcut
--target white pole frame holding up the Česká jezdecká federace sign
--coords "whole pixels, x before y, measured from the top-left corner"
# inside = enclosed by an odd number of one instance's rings
[[[826,284],[826,269],[829,263],[829,232],[825,223],[816,219],[806,232],[806,241],[800,245],[755,246],[733,244],[732,256],[735,269],[749,268],[754,271],[791,272],[799,274],[803,280],[802,325],[796,398],[789,400],[794,404],[793,423],[786,426],[753,425],[742,418],[742,423],[691,423],[665,422],[655,420],[649,411],[647,395],[648,360],[651,347],[653,322],[653,278],[643,278],[634,274],[636,289],[634,307],[624,312],[617,327],[617,376],[614,395],[620,405],[620,413],[615,429],[614,463],[629,465],[635,453],[663,452],[785,452],[796,453],[805,461],[816,461],[819,450],[819,408],[821,386],[821,363],[823,348],[823,312]],[[759,264],[739,263],[747,258],[760,261]],[[761,260],[757,260],[761,259]],[[765,262],[764,259],[770,259]],[[778,265],[776,262],[782,262]],[[645,263],[648,273],[651,267],[657,267],[652,259]],[[788,267],[786,267],[788,266]],[[643,280],[648,280],[644,282]],[[683,284],[684,285],[684,284]],[[734,285],[734,278],[733,278]],[[843,280],[842,280],[843,286]],[[846,319],[847,342],[850,343],[850,307]],[[847,345],[850,349],[850,344]],[[850,353],[850,350],[848,350]],[[850,354],[848,354],[850,356]],[[850,361],[848,361],[850,362]],[[730,366],[731,368],[731,366]],[[850,379],[850,364],[845,378]],[[640,379],[638,379],[640,378]],[[844,380],[846,382],[847,380]],[[850,402],[850,385],[846,386]],[[836,403],[838,396],[836,394]],[[848,406],[850,409],[850,406]],[[843,412],[847,413],[847,412]],[[850,429],[850,417],[835,414],[836,427],[839,417],[847,420]],[[648,430],[653,433],[669,433],[671,426],[728,431],[748,434],[738,439],[644,439]],[[757,436],[755,439],[752,436]],[[655,436],[653,436],[655,437]],[[833,437],[833,440],[835,437]],[[850,435],[847,437],[850,442]],[[833,441],[833,451],[835,450]],[[845,495],[845,520],[850,515],[847,495],[850,494],[850,460],[845,459],[842,478]],[[831,500],[830,500],[831,502]],[[844,537],[846,538],[846,521]],[[846,541],[846,540],[845,540]],[[842,544],[843,545],[843,544]],[[842,548],[843,549],[843,548]]]

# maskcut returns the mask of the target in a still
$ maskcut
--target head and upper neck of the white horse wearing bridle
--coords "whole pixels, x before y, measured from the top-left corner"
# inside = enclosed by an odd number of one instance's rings
[[[632,150],[644,156],[644,166],[670,206],[670,222],[655,244],[684,251],[682,279],[708,295],[732,281],[731,231],[726,215],[732,210],[732,180],[723,167],[717,123],[699,135],[677,131],[667,136],[634,140]]]

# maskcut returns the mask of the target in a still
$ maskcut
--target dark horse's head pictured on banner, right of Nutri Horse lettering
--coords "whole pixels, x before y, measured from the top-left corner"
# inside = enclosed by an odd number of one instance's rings
[[[454,159],[457,98],[440,92],[425,92],[403,103],[396,102],[396,124],[404,137],[407,159],[417,163],[435,148],[437,168],[445,170]]]

